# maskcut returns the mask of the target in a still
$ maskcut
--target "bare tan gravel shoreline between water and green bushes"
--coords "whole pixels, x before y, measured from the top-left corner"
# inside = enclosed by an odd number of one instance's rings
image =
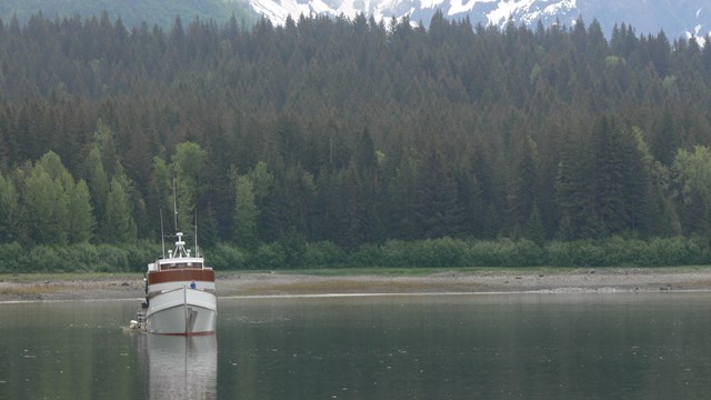
[[[415,269],[412,269],[415,271]],[[427,274],[348,274],[299,271],[219,272],[224,298],[346,297],[387,294],[578,293],[711,291],[711,268],[477,269]],[[0,302],[129,300],[143,297],[143,278],[134,274],[3,276]]]

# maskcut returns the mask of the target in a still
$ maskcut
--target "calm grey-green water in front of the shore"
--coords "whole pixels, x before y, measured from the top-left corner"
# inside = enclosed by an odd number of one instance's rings
[[[711,396],[711,293],[220,299],[193,339],[137,306],[0,304],[0,399]]]

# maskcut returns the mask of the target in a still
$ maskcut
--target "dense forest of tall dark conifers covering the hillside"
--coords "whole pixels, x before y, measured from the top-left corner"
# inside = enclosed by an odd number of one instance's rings
[[[0,241],[157,240],[173,192],[246,251],[703,236],[710,103],[711,46],[625,24],[0,21]]]

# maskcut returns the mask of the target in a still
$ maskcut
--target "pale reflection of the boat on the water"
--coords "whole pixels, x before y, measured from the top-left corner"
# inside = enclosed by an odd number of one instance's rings
[[[140,334],[150,399],[216,399],[218,341],[201,337]],[[142,344],[142,346],[141,346]]]

